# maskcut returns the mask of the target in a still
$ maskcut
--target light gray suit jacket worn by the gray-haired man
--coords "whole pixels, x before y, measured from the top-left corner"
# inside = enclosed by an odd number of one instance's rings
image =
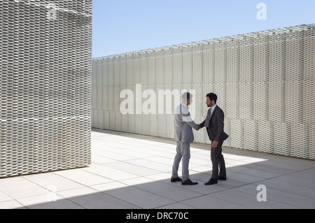
[[[178,142],[193,143],[193,129],[198,130],[197,124],[192,120],[188,107],[181,103],[175,109],[174,138]]]

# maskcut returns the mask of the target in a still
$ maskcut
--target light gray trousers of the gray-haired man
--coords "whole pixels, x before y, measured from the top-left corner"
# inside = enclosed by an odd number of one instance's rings
[[[182,161],[182,180],[189,179],[190,143],[177,142],[176,156],[174,158],[172,178],[178,178],[179,163]]]

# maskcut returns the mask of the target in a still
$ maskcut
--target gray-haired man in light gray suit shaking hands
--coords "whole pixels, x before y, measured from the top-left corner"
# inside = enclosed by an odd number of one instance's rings
[[[188,106],[193,101],[193,94],[186,92],[182,95],[182,103],[176,107],[174,115],[174,138],[177,143],[176,156],[172,169],[171,182],[181,181],[182,185],[197,185],[189,178],[190,143],[194,141],[193,129],[199,130],[192,120]],[[182,161],[182,179],[179,178],[179,163]]]

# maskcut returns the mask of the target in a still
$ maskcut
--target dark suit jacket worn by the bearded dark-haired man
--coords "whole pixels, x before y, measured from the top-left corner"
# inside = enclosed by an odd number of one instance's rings
[[[204,127],[206,120],[200,124],[200,127]],[[209,121],[209,128],[207,128],[208,136],[211,141],[223,142],[229,136],[224,132],[224,113],[223,110],[217,105],[212,112],[211,119]]]

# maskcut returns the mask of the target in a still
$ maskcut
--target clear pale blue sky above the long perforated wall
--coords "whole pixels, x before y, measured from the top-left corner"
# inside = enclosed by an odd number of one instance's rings
[[[92,57],[311,23],[315,0],[93,0]]]

